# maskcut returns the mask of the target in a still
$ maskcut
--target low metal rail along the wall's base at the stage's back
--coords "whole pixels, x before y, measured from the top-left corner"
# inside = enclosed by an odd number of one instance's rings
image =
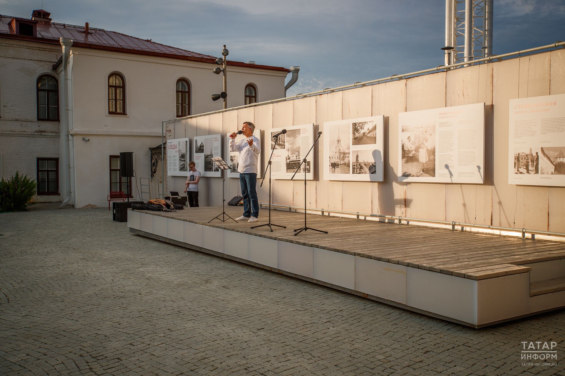
[[[259,207],[269,207],[269,204],[265,204],[263,202],[259,202]],[[275,205],[275,204],[271,204],[271,207],[273,209],[285,209],[288,211],[292,211],[294,209],[294,211],[298,211],[298,210],[304,210],[303,206],[284,206],[284,205]],[[503,227],[503,226],[493,226],[493,225],[487,225],[487,224],[476,224],[476,223],[464,223],[464,222],[456,222],[456,221],[446,221],[446,220],[436,220],[436,219],[425,219],[425,218],[411,218],[408,216],[394,216],[394,215],[383,215],[383,214],[372,214],[372,213],[361,213],[359,211],[354,212],[354,211],[343,211],[343,210],[332,210],[332,209],[318,209],[318,208],[312,208],[312,207],[307,207],[306,211],[315,211],[315,212],[320,212],[321,215],[325,215],[327,213],[327,215],[330,215],[330,213],[334,213],[334,214],[346,214],[346,215],[355,215],[357,219],[360,219],[360,217],[372,217],[372,218],[380,218],[380,219],[393,219],[395,221],[398,221],[398,224],[402,224],[402,221],[405,221],[407,224],[409,222],[419,222],[419,223],[433,223],[433,224],[443,224],[443,225],[450,225],[452,230],[455,230],[455,227],[459,227],[462,231],[464,231],[464,228],[483,228],[483,229],[490,229],[490,230],[496,230],[496,231],[507,231],[507,232],[519,232],[521,233],[521,238],[525,238],[526,234],[531,234],[531,235],[546,235],[546,236],[555,236],[555,237],[563,237],[563,241],[565,241],[565,233],[563,232],[551,232],[551,231],[541,231],[541,230],[533,230],[533,229],[527,229],[527,228],[512,228],[512,227]]]

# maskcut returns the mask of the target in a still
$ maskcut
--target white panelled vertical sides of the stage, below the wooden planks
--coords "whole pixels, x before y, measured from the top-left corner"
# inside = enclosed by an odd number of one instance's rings
[[[128,211],[132,233],[480,328],[565,307],[565,291],[529,296],[530,273],[471,280],[362,256]]]

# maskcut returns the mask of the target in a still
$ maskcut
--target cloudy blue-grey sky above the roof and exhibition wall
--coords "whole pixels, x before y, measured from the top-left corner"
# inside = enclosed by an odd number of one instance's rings
[[[301,67],[287,95],[444,64],[445,0],[0,0],[0,14]],[[493,54],[565,41],[565,0],[494,0]],[[287,78],[290,79],[290,74]]]

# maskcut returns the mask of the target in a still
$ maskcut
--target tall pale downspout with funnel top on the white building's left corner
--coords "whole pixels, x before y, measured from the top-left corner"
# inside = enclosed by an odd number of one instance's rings
[[[65,182],[67,188],[67,196],[62,202],[61,206],[73,205],[72,194],[71,194],[71,160],[70,160],[70,147],[69,147],[69,116],[68,116],[68,77],[67,77],[67,66],[69,62],[69,55],[71,55],[72,39],[70,38],[59,38],[61,47],[63,50],[63,90],[61,92],[62,102],[63,102],[63,116],[61,117],[60,126],[60,140],[62,141],[62,159],[65,163],[65,168],[63,174],[65,175]]]

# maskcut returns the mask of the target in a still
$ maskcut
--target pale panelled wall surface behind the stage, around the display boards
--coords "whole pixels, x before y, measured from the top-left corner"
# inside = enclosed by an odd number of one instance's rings
[[[257,129],[384,116],[384,181],[324,180],[324,134],[314,152],[314,181],[307,185],[307,205],[326,210],[402,215],[505,227],[565,232],[565,187],[509,184],[509,100],[565,93],[563,49],[474,65],[449,72],[358,87],[258,107],[230,110],[169,122],[167,139],[226,134],[244,121]],[[485,103],[484,184],[398,182],[398,114],[409,111]],[[225,141],[225,140],[224,140]],[[263,140],[263,166],[269,154]],[[223,156],[226,157],[226,156]],[[225,179],[227,200],[240,193],[236,178]],[[221,205],[221,178],[201,180],[202,205]],[[169,177],[170,189],[184,178]],[[301,206],[303,180],[274,180],[273,202]],[[181,189],[180,189],[181,190]],[[268,202],[268,179],[258,184],[259,202]]]

